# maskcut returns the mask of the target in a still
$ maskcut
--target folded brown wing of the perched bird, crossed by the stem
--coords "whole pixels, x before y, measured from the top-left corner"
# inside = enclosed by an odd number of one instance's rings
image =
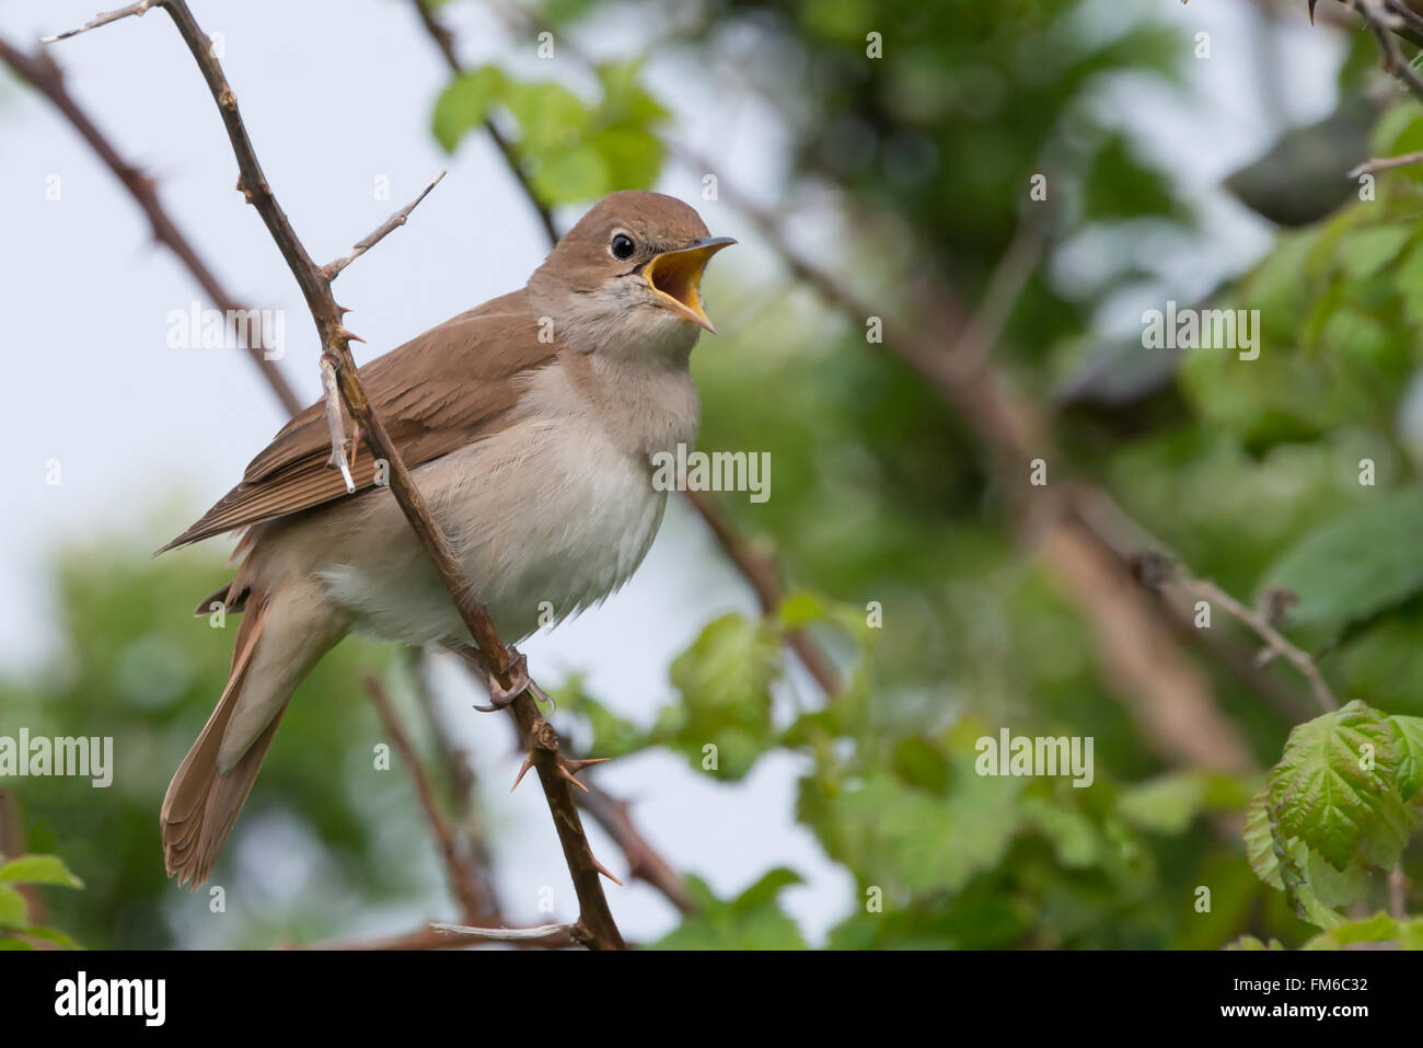
[[[518,290],[431,328],[359,373],[406,466],[414,467],[497,426],[518,403],[517,376],[552,362],[555,349],[539,342]],[[158,552],[344,497],[340,471],[326,466],[330,454],[326,409],[317,402],[282,427],[240,484]],[[361,444],[351,467],[356,490],[370,487],[374,474]]]

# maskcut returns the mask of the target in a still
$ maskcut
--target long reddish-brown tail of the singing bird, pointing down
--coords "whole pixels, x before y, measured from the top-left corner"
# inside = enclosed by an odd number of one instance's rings
[[[319,602],[283,597],[248,595],[228,686],[168,783],[159,826],[168,873],[179,884],[208,880],[292,692],[340,639]]]

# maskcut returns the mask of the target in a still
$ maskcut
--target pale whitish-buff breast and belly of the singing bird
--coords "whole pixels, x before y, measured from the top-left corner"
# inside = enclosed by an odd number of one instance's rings
[[[544,377],[548,376],[548,377]],[[666,508],[650,463],[541,373],[521,419],[414,471],[499,635],[514,642],[620,588]],[[690,383],[690,380],[689,380]],[[694,397],[694,392],[693,392]],[[669,436],[694,436],[676,431]],[[388,491],[339,503],[313,565],[359,632],[410,644],[462,638],[462,625]]]

